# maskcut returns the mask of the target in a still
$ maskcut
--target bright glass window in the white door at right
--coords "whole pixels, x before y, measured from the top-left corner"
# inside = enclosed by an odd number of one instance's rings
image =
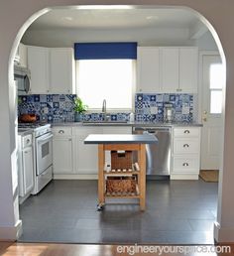
[[[222,88],[224,86],[224,69],[222,64],[210,65],[210,114],[222,113]]]

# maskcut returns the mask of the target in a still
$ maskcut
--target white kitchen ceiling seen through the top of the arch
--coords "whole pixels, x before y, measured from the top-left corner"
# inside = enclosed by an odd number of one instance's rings
[[[41,16],[29,30],[186,28],[199,21],[183,9],[57,9]]]

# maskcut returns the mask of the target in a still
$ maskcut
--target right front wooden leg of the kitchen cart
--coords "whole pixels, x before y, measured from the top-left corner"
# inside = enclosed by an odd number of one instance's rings
[[[146,145],[140,145],[138,152],[138,159],[140,165],[140,208],[146,209]]]

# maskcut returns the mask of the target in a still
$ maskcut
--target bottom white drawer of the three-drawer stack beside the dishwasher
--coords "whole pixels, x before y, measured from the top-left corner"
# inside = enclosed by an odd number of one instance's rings
[[[174,173],[190,173],[198,172],[199,170],[199,157],[194,155],[191,157],[174,157],[173,159],[173,172]]]

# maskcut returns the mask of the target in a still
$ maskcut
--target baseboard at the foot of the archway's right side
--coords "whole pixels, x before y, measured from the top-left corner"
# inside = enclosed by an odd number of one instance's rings
[[[218,243],[234,242],[234,227],[222,228],[218,222],[214,222],[214,239]]]

